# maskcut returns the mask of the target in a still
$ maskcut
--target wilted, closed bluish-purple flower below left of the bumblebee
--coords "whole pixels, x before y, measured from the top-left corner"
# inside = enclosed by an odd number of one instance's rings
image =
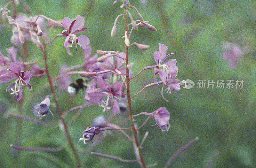
[[[47,97],[41,103],[34,105],[33,113],[42,119],[48,113],[49,107],[50,99]]]

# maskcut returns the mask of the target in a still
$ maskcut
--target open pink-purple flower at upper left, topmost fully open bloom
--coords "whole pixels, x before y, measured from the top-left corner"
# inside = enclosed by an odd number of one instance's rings
[[[64,46],[67,48],[68,54],[71,55],[69,48],[71,47],[72,49],[73,42],[77,43],[85,50],[90,43],[89,38],[85,35],[80,35],[76,37],[77,33],[80,33],[88,28],[84,27],[84,18],[82,18],[80,15],[77,15],[76,19],[73,20],[71,20],[68,17],[65,17],[64,19],[61,20],[61,23],[66,28],[62,31],[62,35],[66,36]]]

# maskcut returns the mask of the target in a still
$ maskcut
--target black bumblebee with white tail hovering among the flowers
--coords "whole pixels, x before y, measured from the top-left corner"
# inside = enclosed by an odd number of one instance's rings
[[[78,91],[80,89],[86,89],[87,87],[89,87],[90,82],[88,78],[81,78],[81,79],[77,79],[76,81],[72,82],[69,86],[68,86],[68,93],[70,95],[75,95],[78,93]]]

